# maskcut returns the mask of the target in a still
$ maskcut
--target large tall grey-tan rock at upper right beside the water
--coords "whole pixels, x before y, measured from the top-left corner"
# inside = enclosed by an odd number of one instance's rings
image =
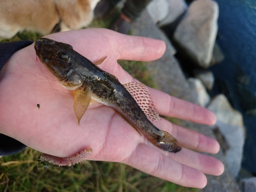
[[[210,65],[218,31],[218,4],[211,0],[193,1],[178,25],[174,40],[200,67]]]

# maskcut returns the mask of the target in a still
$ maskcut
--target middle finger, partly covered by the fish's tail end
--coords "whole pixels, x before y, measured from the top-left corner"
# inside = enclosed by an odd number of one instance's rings
[[[220,150],[220,144],[213,138],[207,137],[196,131],[170,123],[166,119],[154,123],[160,130],[167,131],[174,136],[179,145],[205,153],[216,154]]]

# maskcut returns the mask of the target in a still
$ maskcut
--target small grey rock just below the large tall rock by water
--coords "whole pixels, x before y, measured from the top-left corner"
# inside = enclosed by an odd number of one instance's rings
[[[196,78],[202,81],[207,90],[210,91],[212,89],[215,80],[214,73],[212,73],[211,71],[196,70],[194,74]]]

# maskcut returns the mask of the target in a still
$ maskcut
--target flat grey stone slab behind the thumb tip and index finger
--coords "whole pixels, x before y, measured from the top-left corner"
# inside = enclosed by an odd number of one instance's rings
[[[190,90],[179,63],[173,56],[176,50],[164,33],[153,23],[146,10],[132,24],[131,32],[137,36],[162,39],[166,43],[164,55],[158,60],[147,62],[147,69],[158,89],[175,97],[196,102],[196,93],[194,90]]]

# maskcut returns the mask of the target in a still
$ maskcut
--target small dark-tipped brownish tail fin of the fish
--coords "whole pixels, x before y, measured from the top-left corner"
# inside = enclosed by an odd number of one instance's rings
[[[164,136],[158,140],[158,142],[155,143],[159,148],[161,148],[164,151],[177,153],[181,150],[181,146],[177,144],[177,139],[175,139],[172,135],[169,133],[162,131],[164,133]]]

